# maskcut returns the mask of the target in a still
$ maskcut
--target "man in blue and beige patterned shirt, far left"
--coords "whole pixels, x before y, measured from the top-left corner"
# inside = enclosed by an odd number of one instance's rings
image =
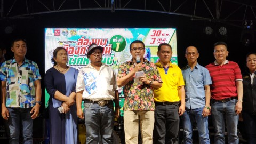
[[[23,143],[33,143],[33,119],[41,105],[41,76],[35,62],[25,58],[27,44],[15,39],[11,45],[14,58],[0,68],[2,81],[2,117],[10,129],[9,143],[19,143],[20,123]]]

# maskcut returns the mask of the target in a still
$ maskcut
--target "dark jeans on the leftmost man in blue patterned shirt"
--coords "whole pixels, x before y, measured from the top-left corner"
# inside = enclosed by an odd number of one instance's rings
[[[10,140],[9,143],[19,144],[20,136],[20,122],[22,124],[23,143],[33,143],[33,119],[31,118],[31,108],[10,108],[8,126],[10,129]]]

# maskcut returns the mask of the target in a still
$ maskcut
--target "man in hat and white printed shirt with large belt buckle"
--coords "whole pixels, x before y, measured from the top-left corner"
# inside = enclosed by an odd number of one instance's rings
[[[79,70],[76,83],[77,116],[85,118],[86,143],[113,143],[114,109],[118,118],[119,95],[116,90],[116,76],[114,70],[102,63],[103,47],[92,43],[87,57],[90,65]],[[84,101],[84,113],[81,108]]]

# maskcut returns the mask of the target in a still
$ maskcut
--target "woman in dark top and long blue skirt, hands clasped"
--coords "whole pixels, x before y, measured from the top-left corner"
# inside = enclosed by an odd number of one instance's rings
[[[67,66],[67,51],[57,47],[53,52],[54,66],[45,73],[44,84],[50,95],[50,143],[77,143],[75,88],[78,71]],[[58,108],[62,107],[63,113]]]

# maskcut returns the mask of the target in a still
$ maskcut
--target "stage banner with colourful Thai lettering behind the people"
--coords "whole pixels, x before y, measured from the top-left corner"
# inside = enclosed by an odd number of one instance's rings
[[[145,43],[145,58],[157,62],[157,46],[172,46],[172,63],[177,64],[177,37],[175,28],[45,28],[45,71],[53,66],[51,59],[57,47],[68,52],[68,66],[76,69],[88,65],[88,47],[96,43],[104,47],[102,62],[117,73],[119,65],[131,60],[130,44],[134,40]],[[46,93],[47,94],[47,93]]]

